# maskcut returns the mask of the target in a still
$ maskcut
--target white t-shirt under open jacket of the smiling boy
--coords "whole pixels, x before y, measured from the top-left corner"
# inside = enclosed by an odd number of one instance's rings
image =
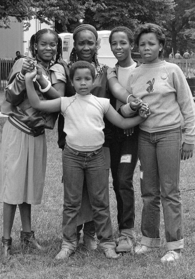
[[[120,83],[120,85],[122,87],[126,88],[129,75],[130,75],[132,69],[136,68],[136,66],[137,66],[137,62],[133,63],[131,66],[126,67],[126,68],[119,66],[118,82]],[[119,110],[120,105],[122,105],[122,103],[119,100],[117,100],[116,101],[116,111]]]

